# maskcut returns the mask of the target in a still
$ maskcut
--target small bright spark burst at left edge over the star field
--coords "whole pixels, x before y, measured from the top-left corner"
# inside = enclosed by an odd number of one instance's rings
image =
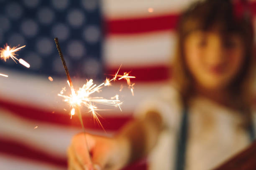
[[[10,48],[10,46],[8,46],[7,44],[4,46],[4,48],[0,48],[0,59],[4,60],[6,62],[7,59],[11,58],[13,59],[14,62],[16,62],[15,60],[19,61],[20,64],[24,65],[25,67],[30,67],[30,65],[28,64],[28,62],[26,62],[23,59],[18,59],[16,56],[18,54],[16,54],[15,52],[19,51],[21,48],[26,47],[26,45],[23,45],[21,47],[12,47]],[[16,62],[17,64],[17,62]]]

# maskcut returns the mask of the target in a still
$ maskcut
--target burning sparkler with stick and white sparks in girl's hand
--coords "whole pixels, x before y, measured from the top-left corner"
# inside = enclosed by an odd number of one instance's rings
[[[83,124],[83,121],[82,121],[82,115],[81,115],[81,112],[80,112],[80,107],[85,106],[89,110],[88,112],[92,113],[92,116],[93,116],[94,120],[96,120],[98,125],[100,125],[102,127],[102,129],[104,130],[104,128],[103,128],[103,126],[102,126],[102,124],[101,124],[101,122],[98,118],[98,116],[100,116],[100,115],[96,112],[99,109],[94,105],[94,103],[119,107],[119,109],[121,110],[120,105],[122,104],[122,102],[119,100],[118,95],[115,95],[114,97],[111,97],[110,100],[105,99],[103,97],[92,97],[91,95],[95,92],[100,92],[103,87],[111,85],[110,82],[117,80],[118,77],[119,77],[118,80],[121,80],[121,79],[127,80],[127,84],[131,88],[132,94],[133,94],[133,85],[134,85],[134,83],[131,84],[130,78],[135,78],[135,77],[134,76],[129,76],[129,72],[125,72],[124,75],[118,75],[118,72],[119,72],[120,67],[121,67],[120,66],[118,71],[115,73],[115,75],[112,79],[106,78],[105,82],[102,82],[100,85],[94,84],[93,80],[90,79],[90,80],[87,80],[87,82],[82,87],[79,87],[78,90],[74,90],[74,86],[73,86],[71,77],[69,75],[69,70],[67,68],[66,62],[64,60],[64,56],[63,56],[63,54],[61,52],[61,49],[60,49],[60,46],[59,46],[58,38],[54,38],[54,40],[55,40],[56,47],[58,49],[59,55],[61,57],[62,64],[64,66],[64,70],[65,70],[66,75],[67,75],[68,85],[69,85],[70,90],[71,90],[70,95],[64,95],[64,92],[66,91],[66,88],[62,88],[62,90],[60,91],[58,96],[63,97],[64,101],[69,103],[69,105],[71,107],[71,112],[70,112],[71,117],[70,118],[72,118],[72,116],[75,115],[75,112],[77,112],[78,116],[79,116],[80,123],[82,125],[82,129],[85,132],[84,124]],[[85,135],[85,133],[84,133],[84,135]],[[86,140],[86,135],[85,135],[85,140]],[[87,143],[87,140],[86,140],[86,143]],[[88,145],[87,145],[87,147],[88,147]],[[88,149],[87,154],[89,155],[89,158],[90,158],[89,148],[87,148],[87,149]]]

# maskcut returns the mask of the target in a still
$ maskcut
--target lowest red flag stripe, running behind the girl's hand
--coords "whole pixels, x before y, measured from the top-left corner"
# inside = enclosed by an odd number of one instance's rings
[[[61,166],[63,168],[67,167],[67,159],[56,158],[50,154],[42,152],[41,150],[31,148],[23,143],[18,143],[17,141],[8,140],[6,138],[0,138],[0,153],[18,158],[39,161],[41,163]],[[146,170],[146,167],[147,164],[145,161],[138,161],[132,165],[129,165],[123,170]]]

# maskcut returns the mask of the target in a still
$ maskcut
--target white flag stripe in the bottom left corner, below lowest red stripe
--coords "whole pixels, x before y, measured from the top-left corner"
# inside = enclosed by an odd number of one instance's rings
[[[66,168],[41,163],[38,161],[16,158],[0,154],[0,167],[2,170],[65,170]]]

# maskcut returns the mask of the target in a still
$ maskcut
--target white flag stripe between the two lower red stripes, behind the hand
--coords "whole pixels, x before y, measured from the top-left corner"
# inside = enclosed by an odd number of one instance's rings
[[[34,129],[36,126],[38,128]],[[80,132],[82,132],[82,128],[68,128],[61,125],[26,120],[12,115],[6,110],[0,110],[1,138],[23,143],[56,158],[66,158],[66,150],[72,136]],[[87,129],[87,132],[103,136],[113,135],[111,131],[106,134],[102,130]]]

